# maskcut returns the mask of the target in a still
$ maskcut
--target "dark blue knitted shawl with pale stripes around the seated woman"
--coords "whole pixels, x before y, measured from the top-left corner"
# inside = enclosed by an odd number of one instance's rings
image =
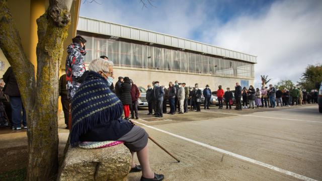
[[[122,108],[121,101],[111,92],[107,80],[99,73],[90,71],[71,101],[70,144],[75,146],[79,137],[96,125],[120,118]]]

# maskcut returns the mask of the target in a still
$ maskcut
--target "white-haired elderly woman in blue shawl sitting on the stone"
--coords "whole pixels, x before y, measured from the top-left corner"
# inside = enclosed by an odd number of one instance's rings
[[[148,135],[144,129],[123,120],[122,103],[111,92],[113,62],[98,58],[89,65],[89,74],[71,102],[70,144],[80,141],[123,141],[132,153],[131,171],[141,171],[141,180],[163,180],[151,171],[148,160]],[[141,164],[135,165],[134,152]]]

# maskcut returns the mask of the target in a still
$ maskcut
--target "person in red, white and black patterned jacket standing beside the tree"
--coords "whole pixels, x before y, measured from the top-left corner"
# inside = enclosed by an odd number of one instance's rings
[[[67,47],[66,58],[66,82],[67,82],[67,96],[71,100],[81,83],[78,79],[86,71],[83,56],[86,55],[85,51],[86,40],[82,36],[75,36],[72,39],[72,44]]]

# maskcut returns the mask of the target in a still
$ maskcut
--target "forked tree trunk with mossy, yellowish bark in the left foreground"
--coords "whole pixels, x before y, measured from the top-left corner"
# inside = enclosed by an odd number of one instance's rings
[[[57,172],[58,71],[70,24],[72,0],[49,0],[38,20],[37,81],[23,51],[7,1],[0,0],[0,48],[13,67],[28,124],[28,180],[48,180]]]

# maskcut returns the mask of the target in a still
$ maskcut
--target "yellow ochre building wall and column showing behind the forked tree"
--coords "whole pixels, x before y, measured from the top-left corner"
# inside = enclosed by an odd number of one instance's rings
[[[68,29],[68,37],[64,42],[64,47],[67,47],[71,43],[72,37],[76,34],[76,27],[78,21],[78,11],[79,6],[81,5],[81,0],[75,0],[72,2],[70,9],[71,15],[71,25]],[[10,0],[8,1],[9,9],[11,10],[13,20],[18,29],[21,43],[24,48],[24,51],[29,58],[29,60],[35,66],[35,72],[37,72],[37,56],[36,56],[36,47],[38,43],[37,36],[37,23],[36,20],[45,13],[46,9],[49,6],[48,0]],[[64,65],[66,59],[66,49],[64,49],[64,54],[61,61],[61,69],[59,75],[64,73]],[[0,78],[3,77],[3,74],[6,72],[10,66],[7,58],[0,49],[0,61],[5,63],[4,70],[0,70]],[[59,98],[58,110],[61,110],[61,103]]]

